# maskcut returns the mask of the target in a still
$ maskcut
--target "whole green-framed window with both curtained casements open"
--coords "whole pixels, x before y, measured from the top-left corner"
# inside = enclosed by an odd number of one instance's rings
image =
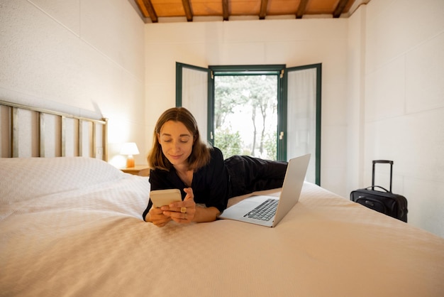
[[[254,88],[261,84],[252,80],[274,80],[274,88],[257,92]],[[270,86],[264,81],[262,87]],[[226,102],[218,101],[223,92]],[[273,92],[273,98],[257,95]],[[320,185],[321,64],[200,68],[177,63],[176,104],[194,114],[201,134],[211,144],[216,141],[216,146],[224,146],[224,156],[248,153],[272,158],[274,149],[277,160],[287,161],[311,153],[306,180]],[[246,127],[247,122],[252,128]],[[246,131],[240,131],[239,125]]]

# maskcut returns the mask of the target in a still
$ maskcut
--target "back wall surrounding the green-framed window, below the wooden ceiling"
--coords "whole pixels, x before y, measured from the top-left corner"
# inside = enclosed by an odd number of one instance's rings
[[[347,19],[155,23],[145,27],[149,129],[175,104],[175,63],[322,63],[321,185],[345,192]]]

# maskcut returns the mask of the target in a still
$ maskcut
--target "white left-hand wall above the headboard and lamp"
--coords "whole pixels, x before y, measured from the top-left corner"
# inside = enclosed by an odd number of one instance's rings
[[[1,0],[0,98],[109,118],[145,162],[144,24],[123,0]],[[82,114],[81,114],[82,115]]]

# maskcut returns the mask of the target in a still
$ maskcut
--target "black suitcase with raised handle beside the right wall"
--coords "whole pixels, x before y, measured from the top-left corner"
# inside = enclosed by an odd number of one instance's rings
[[[376,163],[390,164],[390,190],[386,190],[379,185],[374,185],[374,165]],[[352,193],[350,193],[350,200],[369,207],[372,210],[382,212],[390,217],[407,222],[407,199],[402,195],[392,193],[393,161],[374,160],[372,171],[372,186],[352,191]],[[381,190],[374,190],[374,188]]]

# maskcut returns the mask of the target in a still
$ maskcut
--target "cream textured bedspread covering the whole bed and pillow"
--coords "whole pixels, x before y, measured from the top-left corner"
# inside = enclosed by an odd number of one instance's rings
[[[276,228],[155,227],[148,178],[93,159],[0,159],[0,187],[0,296],[444,296],[443,238],[311,183]]]

